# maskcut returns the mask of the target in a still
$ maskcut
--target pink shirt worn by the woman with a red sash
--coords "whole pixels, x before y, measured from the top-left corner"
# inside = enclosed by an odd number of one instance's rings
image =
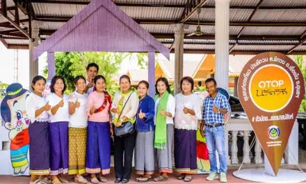
[[[107,102],[106,107],[98,113],[90,115],[90,109],[92,106],[95,106],[96,109],[102,106],[104,102],[104,93],[97,93],[93,91],[88,95],[86,113],[89,116],[88,121],[95,122],[108,122],[110,120],[110,114],[108,113],[109,102]]]

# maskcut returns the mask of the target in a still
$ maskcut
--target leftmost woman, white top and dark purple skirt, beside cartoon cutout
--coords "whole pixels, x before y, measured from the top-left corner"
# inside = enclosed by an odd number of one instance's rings
[[[46,79],[40,75],[32,80],[31,93],[26,100],[26,112],[31,120],[29,125],[30,138],[30,174],[32,183],[42,183],[47,181],[38,179],[37,176],[49,175],[49,115],[47,111],[51,109],[49,102],[42,93],[45,90]],[[43,177],[42,177],[43,178]]]

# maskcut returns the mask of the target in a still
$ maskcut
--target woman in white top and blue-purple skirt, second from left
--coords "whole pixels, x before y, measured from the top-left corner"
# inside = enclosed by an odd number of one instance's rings
[[[51,105],[48,112],[50,115],[50,175],[54,184],[68,183],[65,178],[58,176],[68,172],[69,105],[68,96],[64,93],[66,88],[63,77],[55,76],[51,80],[51,93],[47,96]]]

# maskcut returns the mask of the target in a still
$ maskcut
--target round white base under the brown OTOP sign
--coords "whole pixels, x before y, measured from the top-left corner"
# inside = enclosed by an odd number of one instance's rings
[[[241,169],[234,171],[233,175],[243,180],[263,183],[300,183],[306,181],[306,173],[291,169],[279,169],[276,177],[266,174],[264,168]]]

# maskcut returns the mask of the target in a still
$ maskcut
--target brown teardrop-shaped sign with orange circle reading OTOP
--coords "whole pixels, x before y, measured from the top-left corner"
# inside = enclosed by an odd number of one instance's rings
[[[284,54],[258,54],[241,71],[239,100],[275,176],[304,93],[300,68]]]

